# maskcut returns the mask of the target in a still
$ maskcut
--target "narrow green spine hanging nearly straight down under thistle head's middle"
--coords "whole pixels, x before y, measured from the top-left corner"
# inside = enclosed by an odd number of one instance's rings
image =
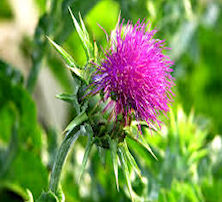
[[[119,181],[118,181],[118,155],[117,155],[117,145],[118,142],[116,140],[109,140],[110,148],[111,148],[111,156],[113,161],[113,169],[116,178],[116,187],[119,191]]]

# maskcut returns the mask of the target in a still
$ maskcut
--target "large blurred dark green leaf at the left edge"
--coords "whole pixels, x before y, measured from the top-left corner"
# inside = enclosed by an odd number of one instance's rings
[[[10,65],[0,63],[0,117],[6,119],[1,120],[6,130],[0,129],[0,142],[9,145],[2,159],[6,167],[0,165],[5,170],[4,174],[1,172],[1,181],[25,193],[29,188],[36,197],[47,187],[48,171],[40,158],[42,134],[35,104],[22,86],[21,78]],[[9,135],[11,138],[6,137]]]

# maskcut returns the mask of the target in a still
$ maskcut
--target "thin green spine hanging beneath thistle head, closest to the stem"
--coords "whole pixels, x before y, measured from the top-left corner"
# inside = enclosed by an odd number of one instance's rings
[[[87,160],[89,158],[89,152],[91,151],[91,148],[93,146],[93,143],[94,143],[94,140],[93,140],[93,131],[92,131],[92,128],[91,126],[89,125],[86,125],[86,131],[88,132],[88,143],[86,145],[86,150],[85,150],[85,154],[84,154],[84,157],[83,157],[83,161],[82,161],[82,166],[81,166],[81,171],[80,171],[80,175],[79,175],[79,182],[82,178],[82,175],[83,175],[83,172],[85,170],[85,167],[86,167],[86,163],[87,163]]]

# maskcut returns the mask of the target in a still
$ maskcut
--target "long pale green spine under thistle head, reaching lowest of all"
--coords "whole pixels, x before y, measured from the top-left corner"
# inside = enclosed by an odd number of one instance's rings
[[[126,161],[125,156],[122,153],[121,149],[118,150],[118,154],[119,154],[119,158],[120,158],[120,162],[121,162],[121,168],[122,168],[124,176],[126,178],[127,187],[128,187],[129,193],[130,193],[130,197],[131,197],[132,201],[134,201],[134,192],[133,192],[133,189],[131,186],[130,174],[129,174],[127,161]]]

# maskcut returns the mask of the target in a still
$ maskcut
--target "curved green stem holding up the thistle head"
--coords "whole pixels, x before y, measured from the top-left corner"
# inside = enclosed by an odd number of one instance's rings
[[[80,132],[80,130],[78,130],[77,126],[79,126],[82,122],[86,121],[87,119],[88,119],[88,117],[86,116],[85,113],[81,114],[76,119],[76,120],[78,120],[78,124],[76,125],[76,127],[74,127],[73,129],[69,130],[66,133],[65,139],[63,140],[63,142],[57,152],[55,162],[54,162],[54,165],[52,168],[50,184],[49,184],[49,189],[54,193],[56,193],[58,190],[62,168],[64,166],[64,163],[65,163],[66,157],[70,151],[70,148],[71,148],[72,144],[78,139],[78,137],[81,134],[81,132]]]

